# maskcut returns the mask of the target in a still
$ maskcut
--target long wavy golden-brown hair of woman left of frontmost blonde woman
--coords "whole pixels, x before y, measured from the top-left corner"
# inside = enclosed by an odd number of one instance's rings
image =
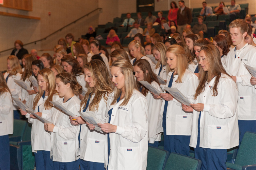
[[[111,87],[112,82],[110,81],[108,69],[104,62],[100,60],[92,60],[85,64],[84,68],[91,72],[94,87],[88,87],[87,93],[80,103],[80,110],[82,107],[83,109],[85,108],[89,96],[95,93],[95,96],[89,105],[89,111],[97,111],[102,97],[107,103],[108,96],[113,91]]]

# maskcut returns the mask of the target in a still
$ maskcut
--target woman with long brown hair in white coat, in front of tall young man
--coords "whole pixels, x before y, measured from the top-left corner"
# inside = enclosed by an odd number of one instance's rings
[[[201,170],[226,170],[227,149],[238,146],[237,99],[235,81],[222,66],[218,48],[204,45],[199,53],[200,81],[196,101],[182,109],[193,111],[190,146]]]

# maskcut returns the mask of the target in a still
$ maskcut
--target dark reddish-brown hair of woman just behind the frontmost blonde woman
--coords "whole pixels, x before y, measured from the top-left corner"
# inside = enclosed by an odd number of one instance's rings
[[[146,59],[140,59],[140,60],[136,61],[133,64],[133,68],[134,68],[135,65],[137,65],[142,70],[142,72],[144,74],[144,81],[147,81],[149,84],[152,81],[156,81],[159,84],[159,81],[158,81],[158,78],[157,78],[156,74],[152,71],[149,62]],[[146,73],[146,70],[147,70],[147,73]],[[137,82],[138,89],[140,89],[141,83],[139,81],[136,81],[136,82]],[[148,89],[143,86],[141,93],[144,96],[147,96],[147,92],[148,92]]]

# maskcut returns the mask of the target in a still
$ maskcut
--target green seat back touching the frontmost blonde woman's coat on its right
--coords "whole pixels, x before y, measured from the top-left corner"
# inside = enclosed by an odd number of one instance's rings
[[[168,156],[168,151],[149,146],[147,152],[147,170],[163,170]]]

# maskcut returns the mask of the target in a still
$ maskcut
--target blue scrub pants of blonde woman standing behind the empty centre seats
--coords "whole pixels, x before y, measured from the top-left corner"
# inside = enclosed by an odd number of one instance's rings
[[[166,128],[163,129],[164,143],[163,149],[168,152],[175,152],[189,156],[190,136],[185,135],[166,135]]]

